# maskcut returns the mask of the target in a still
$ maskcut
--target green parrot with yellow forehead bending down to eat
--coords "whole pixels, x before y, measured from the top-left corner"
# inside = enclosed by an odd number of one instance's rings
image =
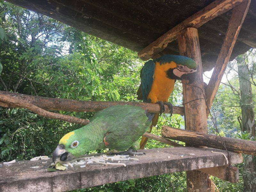
[[[154,113],[140,107],[116,105],[96,113],[89,124],[64,135],[54,150],[52,160],[60,157],[69,161],[97,149],[126,150],[123,154],[143,155],[137,152],[139,138],[149,128]]]

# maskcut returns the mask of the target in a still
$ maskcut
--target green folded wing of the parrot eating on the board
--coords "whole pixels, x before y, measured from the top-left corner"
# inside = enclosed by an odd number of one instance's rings
[[[124,150],[147,131],[151,119],[152,117],[148,120],[145,110],[140,107],[116,105],[99,111],[91,123],[101,124],[102,129],[106,130],[106,147]]]

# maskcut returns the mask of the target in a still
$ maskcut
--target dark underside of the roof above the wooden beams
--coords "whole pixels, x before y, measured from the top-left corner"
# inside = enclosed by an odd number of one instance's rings
[[[8,0],[89,34],[140,51],[213,0]],[[217,60],[231,11],[198,28],[203,70]],[[252,1],[230,60],[256,47],[256,1]],[[161,54],[179,54],[177,41]]]

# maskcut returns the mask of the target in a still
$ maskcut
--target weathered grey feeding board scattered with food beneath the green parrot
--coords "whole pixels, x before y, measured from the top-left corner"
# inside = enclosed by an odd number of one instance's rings
[[[47,172],[46,168],[51,164],[51,160],[48,160],[45,165],[41,163],[41,160],[20,161],[10,166],[0,163],[0,191],[67,191],[122,180],[227,164],[225,157],[221,154],[211,153],[212,149],[177,147],[141,151],[144,151],[146,155],[136,156],[139,161],[125,162],[126,167],[88,164],[85,168],[74,166],[66,171]],[[227,155],[225,151],[221,152]],[[240,154],[230,153],[230,157],[232,164],[242,162]],[[35,166],[39,166],[39,168],[32,168]]]

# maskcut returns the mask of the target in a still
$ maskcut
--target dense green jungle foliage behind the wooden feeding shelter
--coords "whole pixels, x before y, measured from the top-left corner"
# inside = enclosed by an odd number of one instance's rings
[[[136,52],[88,35],[59,21],[0,1],[0,90],[74,100],[135,101],[144,62]],[[208,119],[209,133],[254,140],[242,129],[237,65],[250,72],[255,106],[256,53],[251,49],[228,64]],[[206,77],[205,77],[206,78]],[[206,78],[207,79],[207,78]],[[170,101],[182,104],[182,85],[176,82]],[[94,113],[61,112],[90,119]],[[212,122],[214,121],[214,123]],[[161,125],[184,128],[180,115],[163,114]],[[60,138],[81,125],[37,116],[22,108],[0,107],[0,161],[51,156]],[[168,147],[149,140],[146,148]],[[237,184],[211,177],[220,191],[243,191],[244,164]],[[251,178],[252,180],[255,178]],[[256,182],[256,181],[255,181]],[[78,191],[186,191],[186,173],[128,180]]]

